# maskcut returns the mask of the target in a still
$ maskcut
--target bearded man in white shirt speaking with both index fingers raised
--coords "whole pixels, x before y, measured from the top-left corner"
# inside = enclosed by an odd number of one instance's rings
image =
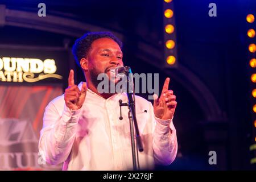
[[[122,43],[109,32],[91,32],[76,40],[73,54],[84,72],[86,83],[74,82],[69,73],[68,88],[46,107],[39,151],[51,164],[63,164],[63,170],[133,169],[128,108],[119,116],[119,100],[125,93],[99,93],[97,76],[123,66]],[[164,82],[162,94],[154,107],[142,97],[135,97],[138,127],[144,151],[138,152],[141,169],[154,164],[170,164],[176,157],[177,138],[172,123],[177,102]],[[114,81],[117,83],[117,81]]]

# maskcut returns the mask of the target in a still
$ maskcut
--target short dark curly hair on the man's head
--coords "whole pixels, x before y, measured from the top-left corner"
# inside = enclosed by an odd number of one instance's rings
[[[72,48],[73,56],[75,57],[77,65],[81,67],[80,60],[83,57],[88,56],[88,52],[92,46],[94,40],[100,38],[110,38],[113,39],[119,47],[122,49],[122,42],[116,36],[114,36],[111,32],[88,32],[81,36],[81,38],[77,39]]]

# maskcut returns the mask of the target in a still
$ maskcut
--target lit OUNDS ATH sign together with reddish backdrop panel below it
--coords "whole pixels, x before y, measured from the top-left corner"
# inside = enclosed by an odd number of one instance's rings
[[[0,45],[0,170],[59,170],[38,151],[44,109],[63,94],[69,53]]]

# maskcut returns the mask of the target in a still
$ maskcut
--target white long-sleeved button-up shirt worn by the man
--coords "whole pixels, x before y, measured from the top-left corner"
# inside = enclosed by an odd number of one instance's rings
[[[81,83],[79,84],[81,89]],[[132,170],[130,123],[126,93],[108,99],[87,89],[84,104],[72,111],[64,95],[46,107],[40,132],[39,152],[50,164],[63,163],[63,170]],[[154,116],[151,102],[135,96],[136,115],[143,144],[138,152],[141,169],[171,164],[177,154],[176,130],[171,119]]]

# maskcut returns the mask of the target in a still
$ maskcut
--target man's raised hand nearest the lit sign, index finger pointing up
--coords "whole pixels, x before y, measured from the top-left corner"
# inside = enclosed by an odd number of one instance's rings
[[[71,110],[77,110],[82,107],[86,97],[86,82],[82,83],[82,89],[79,90],[74,81],[74,71],[71,69],[68,76],[68,88],[65,89],[64,100],[66,106]]]

